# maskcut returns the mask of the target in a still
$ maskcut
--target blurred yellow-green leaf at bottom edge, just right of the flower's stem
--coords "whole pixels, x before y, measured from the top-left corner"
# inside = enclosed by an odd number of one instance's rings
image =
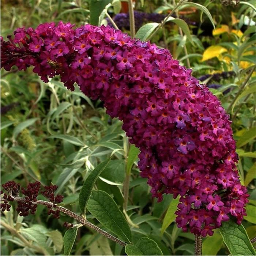
[[[222,245],[222,236],[215,231],[212,236],[207,237],[203,241],[202,255],[217,255],[217,252],[221,249]]]

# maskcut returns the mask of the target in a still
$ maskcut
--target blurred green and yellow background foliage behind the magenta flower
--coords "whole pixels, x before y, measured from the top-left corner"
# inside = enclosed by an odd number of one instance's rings
[[[112,18],[118,12],[128,11],[125,1],[115,2],[107,10]],[[253,8],[256,1],[247,1],[251,6],[241,3],[236,7],[223,6],[217,0],[193,2],[207,6],[215,30],[205,14],[187,6],[178,10],[176,16],[180,15],[188,23],[193,45],[187,35],[170,22],[151,41],[169,49],[182,65],[192,68],[193,76],[212,88],[212,93],[230,114],[240,157],[241,182],[251,195],[243,225],[252,238],[256,233],[256,10]],[[177,1],[136,0],[134,4],[137,11],[166,15]],[[39,23],[51,21],[84,25],[95,15],[92,9],[90,0],[1,0],[1,35],[6,38],[17,27],[35,28]],[[99,22],[107,24],[104,13]],[[127,28],[123,31],[129,33]],[[81,214],[77,200],[84,179],[112,155],[95,186],[109,193],[123,210],[127,200],[123,194],[125,170],[131,146],[121,125],[121,121],[112,120],[105,113],[102,102],[91,101],[78,88],[71,93],[59,78],[46,84],[31,68],[26,72],[15,68],[10,72],[1,70],[1,184],[9,180],[22,186],[35,180],[42,185],[56,184],[57,193],[65,196],[63,206]],[[138,152],[135,150],[135,153]],[[131,166],[125,212],[133,242],[147,236],[157,242],[164,255],[193,255],[192,234],[183,233],[174,222],[163,230],[163,219],[172,196],[165,195],[163,202],[156,203],[151,198],[147,180],[139,175],[137,161]],[[89,212],[87,219],[102,227]],[[1,255],[61,253],[64,222],[73,220],[65,215],[60,219],[49,217],[43,206],[38,206],[35,216],[26,218],[19,217],[15,211],[4,212]],[[203,254],[229,254],[219,231],[204,238]],[[81,227],[72,255],[124,255],[124,249]]]

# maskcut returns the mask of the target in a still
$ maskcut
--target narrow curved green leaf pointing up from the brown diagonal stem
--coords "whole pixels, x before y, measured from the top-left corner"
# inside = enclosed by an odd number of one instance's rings
[[[101,172],[106,168],[110,159],[100,163],[94,170],[91,171],[87,179],[84,181],[83,187],[79,193],[79,206],[82,213],[85,215],[86,206],[91,195],[91,191],[93,190],[93,186],[101,174]]]

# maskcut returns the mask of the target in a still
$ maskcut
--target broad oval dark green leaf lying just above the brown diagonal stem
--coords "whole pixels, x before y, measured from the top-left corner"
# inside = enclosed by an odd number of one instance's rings
[[[116,202],[105,191],[93,191],[87,204],[87,209],[106,228],[120,237],[131,242],[131,230],[124,215]]]

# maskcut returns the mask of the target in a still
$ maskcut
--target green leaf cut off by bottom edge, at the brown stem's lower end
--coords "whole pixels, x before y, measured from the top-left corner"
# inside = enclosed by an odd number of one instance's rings
[[[140,238],[136,245],[127,244],[125,253],[127,255],[163,255],[157,243],[147,237]]]

